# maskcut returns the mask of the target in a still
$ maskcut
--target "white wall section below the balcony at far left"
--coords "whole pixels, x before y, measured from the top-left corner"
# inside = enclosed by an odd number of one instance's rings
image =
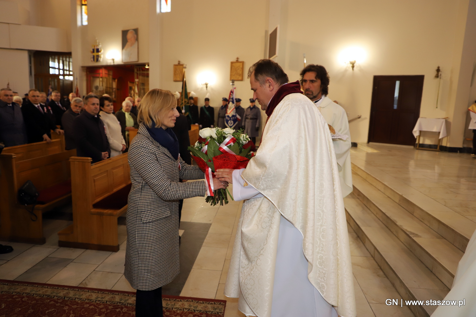
[[[10,88],[23,96],[30,89],[28,74],[28,51],[0,48],[0,88]]]

